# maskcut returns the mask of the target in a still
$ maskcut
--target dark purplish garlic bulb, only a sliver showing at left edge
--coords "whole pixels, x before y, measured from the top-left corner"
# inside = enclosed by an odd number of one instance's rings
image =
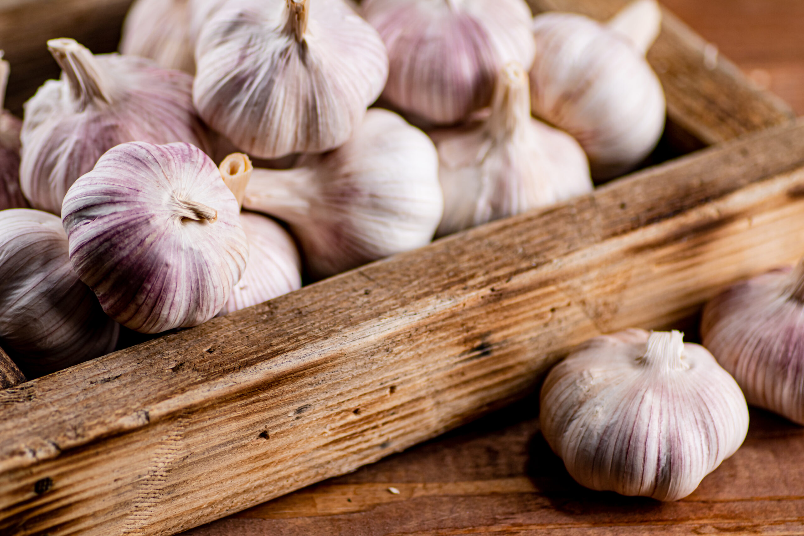
[[[0,51],[0,211],[28,207],[19,187],[19,131],[23,122],[3,106],[10,66],[2,57]]]

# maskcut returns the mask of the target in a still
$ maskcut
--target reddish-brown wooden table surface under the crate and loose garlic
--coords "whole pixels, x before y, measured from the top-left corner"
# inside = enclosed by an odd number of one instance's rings
[[[662,0],[804,114],[804,2]],[[398,492],[398,493],[397,493]],[[187,536],[804,534],[804,428],[751,412],[745,444],[690,497],[662,504],[576,485],[536,399]]]

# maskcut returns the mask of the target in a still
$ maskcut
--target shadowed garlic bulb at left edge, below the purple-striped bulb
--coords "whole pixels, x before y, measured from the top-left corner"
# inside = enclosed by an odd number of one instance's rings
[[[58,216],[0,211],[0,346],[29,378],[114,350],[119,326],[72,271]]]

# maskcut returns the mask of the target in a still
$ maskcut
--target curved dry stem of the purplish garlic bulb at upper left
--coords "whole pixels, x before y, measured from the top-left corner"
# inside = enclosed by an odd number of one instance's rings
[[[112,102],[109,80],[106,80],[95,56],[86,47],[76,43],[75,39],[51,39],[47,42],[47,48],[59,63],[64,76],[67,76],[72,98],[78,102],[79,111],[91,102]]]

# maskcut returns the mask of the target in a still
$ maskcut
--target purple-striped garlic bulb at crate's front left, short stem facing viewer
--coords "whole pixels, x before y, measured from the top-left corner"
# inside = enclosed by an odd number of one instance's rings
[[[105,312],[140,333],[199,325],[248,260],[240,207],[187,143],[109,149],[64,198],[70,260]]]

